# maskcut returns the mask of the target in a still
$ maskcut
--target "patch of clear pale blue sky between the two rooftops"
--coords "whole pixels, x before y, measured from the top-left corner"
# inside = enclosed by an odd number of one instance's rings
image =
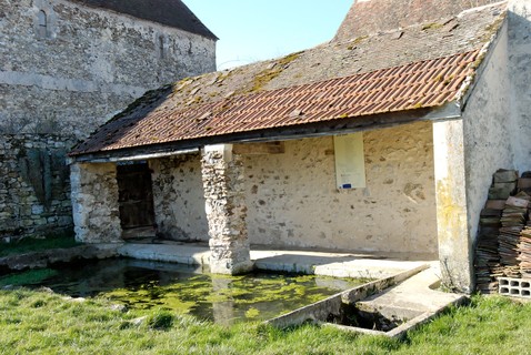
[[[218,69],[311,48],[332,39],[353,0],[183,0],[220,38]]]

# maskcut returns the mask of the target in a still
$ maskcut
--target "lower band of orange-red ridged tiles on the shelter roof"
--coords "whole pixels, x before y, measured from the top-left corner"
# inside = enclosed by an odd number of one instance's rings
[[[239,95],[139,121],[116,120],[74,154],[111,151],[298,125],[343,118],[437,106],[455,98],[479,51],[414,62],[323,82]]]

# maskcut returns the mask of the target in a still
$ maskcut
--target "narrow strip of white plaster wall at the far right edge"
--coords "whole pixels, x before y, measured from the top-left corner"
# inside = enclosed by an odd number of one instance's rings
[[[514,163],[524,172],[531,170],[531,1],[511,0],[509,10],[509,102],[513,134],[519,138]]]

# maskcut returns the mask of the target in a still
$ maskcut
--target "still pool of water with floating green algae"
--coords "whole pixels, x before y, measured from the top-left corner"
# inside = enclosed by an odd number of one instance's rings
[[[131,308],[172,310],[224,325],[271,318],[364,282],[266,273],[223,276],[134,260],[69,264],[56,271],[32,286],[73,297],[104,297]]]

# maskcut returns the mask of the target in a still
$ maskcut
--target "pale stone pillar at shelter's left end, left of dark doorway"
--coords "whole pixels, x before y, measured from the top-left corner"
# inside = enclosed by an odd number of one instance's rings
[[[117,166],[72,164],[71,199],[76,240],[82,243],[121,243]]]

